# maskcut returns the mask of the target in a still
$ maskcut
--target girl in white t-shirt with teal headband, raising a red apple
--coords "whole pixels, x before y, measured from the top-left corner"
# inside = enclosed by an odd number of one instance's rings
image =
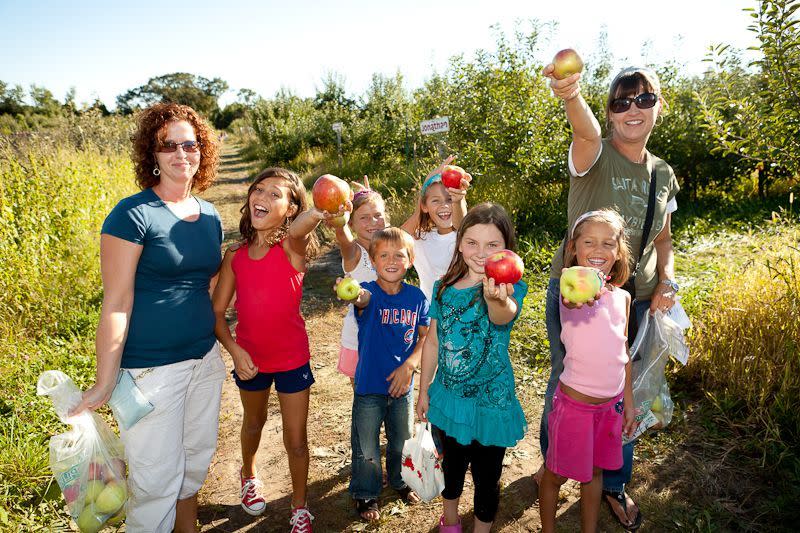
[[[419,288],[428,302],[433,283],[450,266],[456,248],[456,232],[467,212],[466,194],[472,177],[467,174],[462,178],[458,189],[442,184],[442,169],[453,159],[454,156],[448,157],[428,175],[414,213],[401,226],[414,238],[414,268],[419,276]]]

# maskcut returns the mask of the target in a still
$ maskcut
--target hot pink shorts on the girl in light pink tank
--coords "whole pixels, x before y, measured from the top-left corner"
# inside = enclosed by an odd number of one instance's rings
[[[581,483],[592,480],[593,467],[622,467],[622,393],[593,405],[570,398],[558,384],[547,416],[547,468]]]

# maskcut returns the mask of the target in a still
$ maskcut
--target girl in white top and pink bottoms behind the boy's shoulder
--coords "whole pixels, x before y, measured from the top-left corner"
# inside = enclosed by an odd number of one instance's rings
[[[333,226],[336,231],[336,242],[342,252],[342,270],[359,283],[375,281],[375,267],[369,259],[369,243],[372,235],[389,225],[386,216],[386,205],[379,192],[369,188],[369,181],[364,176],[364,185],[351,183],[353,187],[353,210],[350,220],[342,227]],[[353,306],[348,306],[347,315],[342,324],[341,347],[339,348],[339,372],[350,378],[356,375],[358,364],[358,325],[353,314]]]

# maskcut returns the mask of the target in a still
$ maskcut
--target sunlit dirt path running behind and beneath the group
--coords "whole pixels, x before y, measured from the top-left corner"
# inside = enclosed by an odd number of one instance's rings
[[[222,154],[221,175],[205,195],[224,221],[226,236],[238,225],[238,208],[244,200],[250,178],[257,168],[243,162],[235,146],[226,145]],[[311,392],[309,412],[309,508],[316,516],[315,531],[435,531],[441,503],[406,507],[391,490],[384,491],[380,523],[365,525],[351,504],[347,493],[350,475],[350,407],[352,391],[343,375],[336,371],[339,333],[345,306],[330,291],[340,272],[336,250],[322,255],[305,278],[303,314],[311,341],[311,364],[316,384]],[[233,325],[233,323],[232,323]],[[227,352],[226,363],[232,368]],[[518,379],[520,378],[518,374]],[[526,438],[506,455],[501,496],[501,510],[494,531],[517,532],[539,529],[536,489],[531,473],[538,468],[538,421],[541,412],[539,391],[542,384],[535,376],[526,376],[520,387],[530,427]],[[532,380],[532,381],[531,381]],[[533,385],[530,385],[533,383]],[[258,455],[258,469],[265,485],[267,511],[258,518],[247,515],[239,506],[238,471],[240,467],[239,429],[242,408],[232,379],[225,382],[222,395],[219,444],[208,480],[200,493],[202,531],[288,531],[289,493],[291,488],[286,452],[281,436],[281,419],[275,397],[270,398],[269,418],[264,428]],[[567,531],[578,526],[578,506],[574,486],[562,491],[562,526]],[[472,487],[469,477],[462,497],[462,517],[471,526]],[[465,528],[470,530],[471,527]]]

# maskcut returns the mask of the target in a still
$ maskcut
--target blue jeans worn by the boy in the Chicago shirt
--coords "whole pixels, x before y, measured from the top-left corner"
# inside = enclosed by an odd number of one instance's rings
[[[353,395],[353,419],[350,445],[353,454],[350,494],[358,500],[380,496],[383,472],[381,469],[381,424],[386,429],[386,472],[389,484],[402,490],[406,483],[400,476],[403,443],[411,438],[413,389],[399,398],[385,394]]]

